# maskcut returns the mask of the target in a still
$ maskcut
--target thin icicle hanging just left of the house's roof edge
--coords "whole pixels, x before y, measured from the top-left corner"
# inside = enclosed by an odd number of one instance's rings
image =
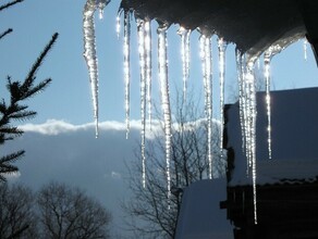
[[[221,156],[223,155],[223,128],[224,128],[224,80],[225,80],[225,50],[227,42],[223,38],[218,40],[219,49],[219,74],[220,74],[220,150]]]

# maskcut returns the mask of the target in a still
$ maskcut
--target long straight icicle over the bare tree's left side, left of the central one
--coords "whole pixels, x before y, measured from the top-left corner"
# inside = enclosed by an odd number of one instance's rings
[[[145,22],[137,20],[138,33],[138,52],[139,52],[139,67],[140,67],[140,116],[142,116],[142,163],[143,163],[143,187],[146,187],[146,30]]]

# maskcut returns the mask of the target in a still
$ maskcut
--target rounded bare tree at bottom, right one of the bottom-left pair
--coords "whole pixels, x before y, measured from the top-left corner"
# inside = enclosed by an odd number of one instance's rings
[[[38,193],[42,238],[109,238],[110,213],[77,188],[51,183]]]

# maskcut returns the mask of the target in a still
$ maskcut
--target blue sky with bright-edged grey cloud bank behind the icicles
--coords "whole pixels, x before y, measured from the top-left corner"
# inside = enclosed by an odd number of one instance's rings
[[[8,1],[3,1],[8,2]],[[2,3],[2,2],[1,2]],[[83,58],[83,9],[85,0],[25,0],[0,13],[0,32],[13,28],[13,33],[0,41],[0,97],[7,96],[5,78],[23,79],[49,41],[53,33],[59,39],[38,71],[37,80],[52,78],[52,84],[39,96],[27,101],[38,115],[32,121],[19,124],[26,134],[5,147],[26,150],[26,156],[19,162],[20,180],[34,188],[51,179],[60,178],[84,187],[106,205],[114,209],[115,223],[120,224],[119,197],[124,197],[124,161],[133,155],[138,131],[125,139],[124,83],[122,36],[115,33],[115,16],[119,0],[105,9],[103,20],[96,15],[96,41],[99,66],[99,111],[101,134],[95,139],[93,105],[89,78]],[[156,24],[152,24],[156,32]],[[169,77],[172,98],[175,88],[182,85],[180,37],[178,26],[168,32]],[[201,68],[198,55],[198,34],[192,40],[189,88],[203,101]],[[139,120],[139,71],[136,52],[135,25],[132,29],[132,99],[131,118]],[[216,45],[215,45],[216,46]],[[156,37],[152,54],[156,55]],[[216,47],[213,58],[217,59]],[[308,46],[308,59],[304,60],[303,41],[292,45],[272,59],[272,89],[293,89],[318,86],[317,64]],[[234,46],[227,51],[225,97],[233,99],[236,88]],[[156,63],[156,60],[154,61]],[[217,68],[217,62],[213,68]],[[217,72],[217,71],[216,71]],[[213,74],[217,76],[218,74]],[[173,96],[174,93],[174,96]],[[159,91],[154,71],[154,101]],[[216,98],[218,93],[216,92]],[[216,99],[215,102],[218,102]],[[38,147],[40,144],[40,147]],[[28,162],[28,163],[26,163]],[[53,163],[54,162],[54,163]],[[60,165],[58,167],[57,165]],[[75,166],[74,166],[75,165]],[[98,185],[98,187],[96,187]],[[97,189],[98,188],[98,189]],[[117,227],[118,230],[119,227]]]

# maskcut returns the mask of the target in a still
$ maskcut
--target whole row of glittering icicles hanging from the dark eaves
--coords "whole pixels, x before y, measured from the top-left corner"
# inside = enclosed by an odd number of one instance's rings
[[[88,0],[84,9],[84,56],[87,62],[94,117],[96,123],[96,137],[98,137],[98,66],[95,45],[95,26],[94,13],[97,9],[102,17],[102,10],[109,3],[106,0]],[[120,9],[117,17],[117,34],[121,33],[121,16],[123,15],[123,72],[125,83],[125,123],[126,137],[130,134],[130,84],[131,84],[131,18],[132,12]],[[146,139],[146,117],[151,123],[151,22],[150,20],[136,18],[137,38],[138,38],[138,54],[140,68],[140,117],[142,117],[142,166],[143,176],[142,184],[146,187],[146,156],[145,156],[145,139]],[[168,79],[168,59],[167,59],[167,30],[168,24],[159,24],[157,28],[158,35],[158,78],[160,81],[161,91],[161,108],[163,113],[164,138],[166,138],[166,175],[167,175],[167,191],[168,205],[170,207],[171,196],[171,177],[170,177],[170,158],[171,158],[171,110],[169,96],[169,79]],[[181,36],[181,61],[182,61],[182,79],[183,79],[183,98],[185,100],[187,90],[187,79],[189,77],[189,36],[191,30],[180,27],[178,34]],[[212,178],[212,47],[211,37],[200,35],[199,37],[199,54],[203,68],[203,85],[205,92],[205,113],[207,121],[207,141],[208,141],[208,162],[209,162],[209,178]],[[304,47],[306,47],[304,45]],[[223,142],[223,124],[224,124],[224,79],[225,79],[225,50],[227,42],[222,38],[218,39],[219,51],[219,83],[220,83],[220,142]],[[266,109],[268,117],[268,152],[271,158],[271,110],[270,110],[270,61],[271,58],[282,50],[281,47],[274,46],[269,48],[264,53],[264,76],[266,85]],[[240,118],[242,127],[243,150],[247,159],[247,175],[252,174],[253,194],[254,194],[254,219],[257,224],[257,204],[256,204],[256,80],[254,76],[255,61],[247,61],[247,55],[236,50],[236,66],[238,75],[238,95],[240,95]],[[220,150],[222,152],[222,143]],[[249,173],[252,171],[252,173]]]

